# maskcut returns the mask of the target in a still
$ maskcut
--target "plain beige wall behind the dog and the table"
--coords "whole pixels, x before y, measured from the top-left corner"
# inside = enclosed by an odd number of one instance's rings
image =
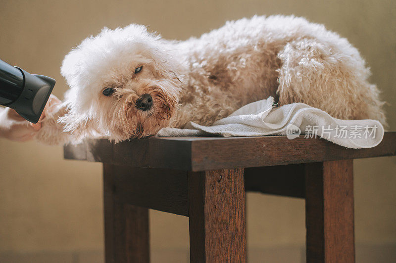
[[[278,13],[324,23],[358,47],[396,130],[394,0],[2,0],[0,58],[55,78],[53,93],[61,98],[63,56],[103,26],[140,23],[165,38],[186,39],[229,19]],[[395,246],[396,158],[357,160],[354,169],[356,242]],[[100,164],[64,161],[62,147],[0,139],[0,253],[101,250],[101,186]],[[187,218],[150,216],[154,250],[187,249]],[[248,194],[247,236],[250,248],[303,246],[303,201]]]

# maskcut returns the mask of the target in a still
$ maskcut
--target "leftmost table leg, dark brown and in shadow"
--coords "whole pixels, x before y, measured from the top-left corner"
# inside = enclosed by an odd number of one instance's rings
[[[149,260],[148,209],[118,201],[111,165],[103,164],[104,243],[106,263]]]

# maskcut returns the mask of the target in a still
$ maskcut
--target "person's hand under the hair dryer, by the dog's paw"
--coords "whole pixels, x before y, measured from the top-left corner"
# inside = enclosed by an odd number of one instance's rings
[[[51,94],[40,116],[39,122],[36,124],[26,121],[13,109],[3,109],[0,111],[0,136],[14,141],[27,141],[32,139],[35,133],[42,127],[41,123],[46,117],[46,113],[53,105],[60,103],[61,101],[55,95]]]

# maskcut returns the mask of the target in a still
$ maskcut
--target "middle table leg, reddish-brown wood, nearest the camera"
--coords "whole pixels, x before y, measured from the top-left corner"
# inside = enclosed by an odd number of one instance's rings
[[[189,173],[190,261],[246,262],[244,170]]]

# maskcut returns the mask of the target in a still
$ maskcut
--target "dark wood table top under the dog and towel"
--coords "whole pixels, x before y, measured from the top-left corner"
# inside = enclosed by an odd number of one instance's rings
[[[64,158],[122,166],[185,171],[312,163],[396,155],[396,132],[386,132],[374,148],[349,149],[320,138],[151,137],[117,144],[88,139],[65,145]]]

